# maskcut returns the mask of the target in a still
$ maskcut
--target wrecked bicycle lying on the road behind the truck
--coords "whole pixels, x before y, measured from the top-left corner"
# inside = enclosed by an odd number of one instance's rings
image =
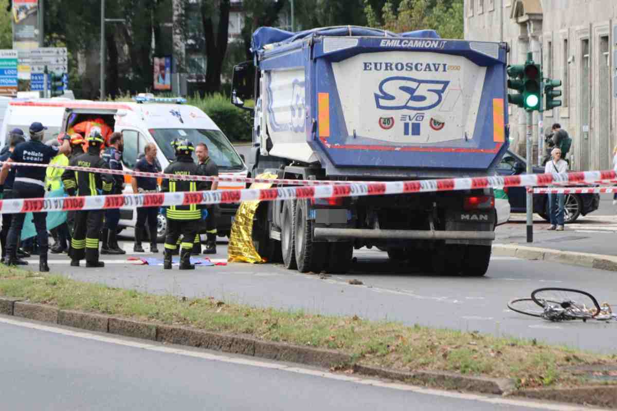
[[[531,298],[517,298],[508,308],[520,314],[559,322],[570,320],[617,320],[610,304],[598,304],[590,293],[574,288],[547,287],[532,291]]]

